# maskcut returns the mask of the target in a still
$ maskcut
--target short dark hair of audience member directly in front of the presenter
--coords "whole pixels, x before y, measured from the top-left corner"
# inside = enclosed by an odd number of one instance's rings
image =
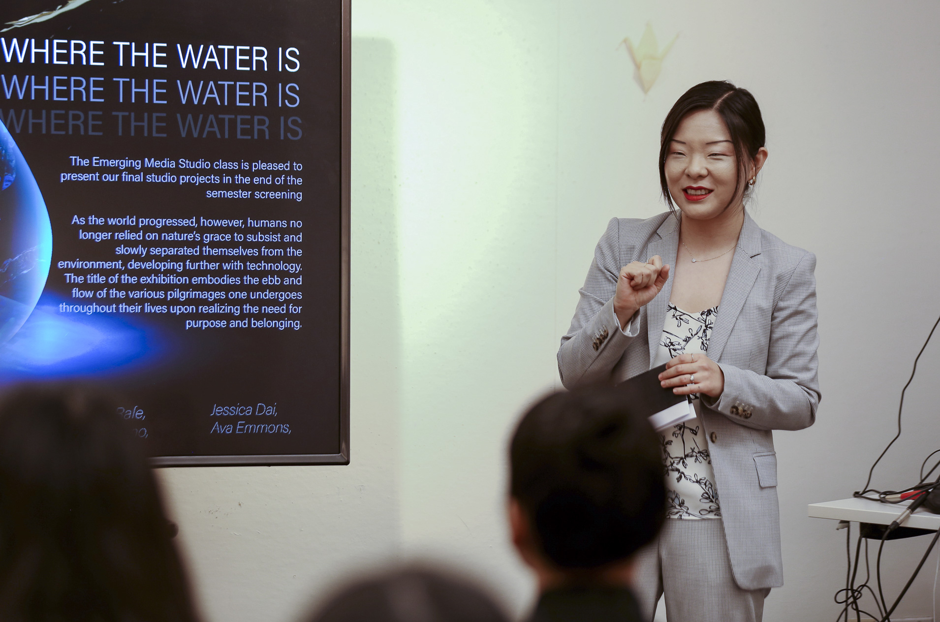
[[[625,559],[666,518],[659,438],[615,388],[542,399],[516,428],[509,462],[510,494],[560,568]]]

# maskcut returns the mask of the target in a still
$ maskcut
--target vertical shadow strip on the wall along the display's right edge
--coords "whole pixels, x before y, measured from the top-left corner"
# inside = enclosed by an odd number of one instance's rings
[[[385,472],[369,477],[375,481],[388,476],[399,447],[395,111],[394,46],[386,39],[353,38],[350,444],[353,464]],[[398,512],[388,519],[397,521]]]

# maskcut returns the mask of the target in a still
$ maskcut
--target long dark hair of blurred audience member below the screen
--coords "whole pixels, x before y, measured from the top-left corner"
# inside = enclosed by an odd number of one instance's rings
[[[101,395],[28,386],[0,404],[0,619],[192,622],[156,481]]]

